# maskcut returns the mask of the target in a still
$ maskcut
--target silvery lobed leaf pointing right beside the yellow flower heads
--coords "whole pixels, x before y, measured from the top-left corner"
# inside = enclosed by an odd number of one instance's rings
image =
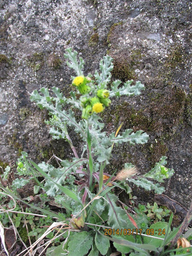
[[[136,84],[131,86],[133,80],[129,80],[126,83],[124,83],[122,87],[118,88],[120,82],[121,81],[119,80],[113,82],[113,86],[111,86],[112,91],[110,91],[110,97],[121,95],[137,96],[141,94],[142,90],[145,90],[145,86],[140,81],[136,81]]]

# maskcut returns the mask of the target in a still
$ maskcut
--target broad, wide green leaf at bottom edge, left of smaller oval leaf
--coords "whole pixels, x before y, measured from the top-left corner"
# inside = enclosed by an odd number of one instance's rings
[[[84,256],[93,244],[93,237],[89,232],[76,232],[68,243],[68,256]]]

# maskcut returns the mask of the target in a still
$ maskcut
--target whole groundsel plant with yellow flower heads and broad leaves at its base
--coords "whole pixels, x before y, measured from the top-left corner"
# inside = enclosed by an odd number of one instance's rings
[[[164,238],[170,232],[170,225],[157,222],[152,228],[162,229],[164,232],[161,235],[152,234],[149,230],[144,234],[147,228],[151,228],[149,218],[145,214],[128,213],[124,204],[118,206],[118,197],[113,188],[119,187],[129,194],[129,184],[132,182],[138,187],[161,194],[164,187],[159,183],[163,183],[174,173],[165,167],[166,157],[162,156],[159,163],[142,176],[136,175],[137,168],[131,163],[126,163],[117,174],[109,175],[104,172],[105,166],[110,163],[114,144],[144,144],[149,136],[144,131],[134,133],[131,129],[118,134],[120,127],[116,133],[107,136],[102,131],[104,123],[98,113],[110,108],[111,98],[118,100],[122,95],[140,95],[145,89],[144,85],[140,81],[132,85],[133,80],[121,85],[121,81],[116,80],[108,87],[113,70],[113,59],[108,55],[100,61],[100,70],[94,73],[94,79],[91,74],[83,74],[84,61],[81,57],[77,59],[77,52],[68,48],[65,58],[68,66],[76,72],[76,76],[71,77],[74,86],[74,91],[70,93],[71,98],[66,98],[59,88],[52,87],[55,96],[50,95],[48,88],[41,88],[39,92],[33,91],[30,99],[41,109],[49,111],[51,117],[45,122],[51,127],[53,139],[62,138],[67,141],[74,158],[70,161],[57,158],[60,166],[56,168],[45,162],[37,165],[28,159],[27,153],[22,152],[17,171],[18,175],[28,179],[17,178],[13,181],[12,190],[16,192],[31,179],[35,179],[34,193],[46,193],[54,197],[55,202],[65,209],[63,213],[50,213],[50,216],[58,219],[58,225],[62,227],[60,236],[65,240],[57,247],[48,248],[46,256],[110,255],[112,250],[119,251],[122,255],[129,252],[131,255],[150,255],[150,251],[158,252],[158,248],[163,251]],[[76,93],[81,95],[79,99],[76,98]],[[81,121],[76,121],[73,109],[81,111]],[[81,156],[74,148],[68,127],[72,127],[81,136]],[[45,209],[35,209],[48,214]],[[125,234],[125,229],[130,229],[131,235]],[[46,234],[43,237],[45,236]],[[58,237],[58,232],[55,237]],[[113,248],[109,239],[113,241]]]

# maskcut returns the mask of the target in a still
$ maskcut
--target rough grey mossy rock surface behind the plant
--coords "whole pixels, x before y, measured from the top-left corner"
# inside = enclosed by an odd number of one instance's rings
[[[0,160],[17,160],[21,151],[36,162],[48,160],[52,151],[70,158],[67,143],[51,139],[44,123],[48,115],[30,102],[30,93],[56,86],[69,96],[74,73],[63,57],[66,48],[81,53],[85,75],[94,74],[107,53],[114,58],[113,79],[140,80],[146,90],[113,100],[103,114],[106,130],[116,131],[124,121],[123,129],[150,135],[147,145],[114,147],[108,170],[132,162],[145,173],[166,155],[175,175],[165,194],[189,207],[191,7],[187,0],[2,1],[0,52],[8,59],[0,55]],[[90,46],[94,33],[99,40]],[[77,148],[73,131],[71,136]],[[141,202],[148,200],[143,190],[133,191]]]

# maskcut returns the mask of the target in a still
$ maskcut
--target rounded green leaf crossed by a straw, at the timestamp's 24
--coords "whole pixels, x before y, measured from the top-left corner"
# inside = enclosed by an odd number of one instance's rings
[[[165,238],[165,235],[162,234],[162,231],[163,231],[163,229],[165,229],[166,233],[170,232],[170,230],[168,230],[168,223],[167,222],[158,221],[157,223],[152,224],[149,227],[149,229],[153,229],[153,231],[154,231],[153,238],[151,237],[151,234],[150,234],[150,236],[144,236],[144,238],[143,238],[144,243],[156,246],[156,248],[161,247],[164,240],[156,239],[156,237]],[[158,235],[159,231],[161,231],[161,235]]]

